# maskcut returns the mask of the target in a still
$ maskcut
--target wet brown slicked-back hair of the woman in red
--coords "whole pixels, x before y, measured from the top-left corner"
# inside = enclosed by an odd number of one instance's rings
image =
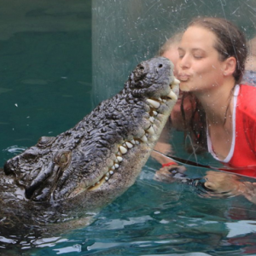
[[[215,34],[217,42],[213,47],[217,49],[220,61],[229,57],[236,58],[236,71],[233,76],[236,83],[241,82],[247,60],[247,39],[236,25],[222,18],[201,17],[195,18],[189,26],[201,26]]]

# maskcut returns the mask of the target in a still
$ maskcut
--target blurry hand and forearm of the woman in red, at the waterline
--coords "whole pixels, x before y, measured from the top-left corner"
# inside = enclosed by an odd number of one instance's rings
[[[256,183],[241,182],[235,174],[225,172],[207,172],[205,176],[207,189],[229,195],[243,195],[248,201],[256,204]]]

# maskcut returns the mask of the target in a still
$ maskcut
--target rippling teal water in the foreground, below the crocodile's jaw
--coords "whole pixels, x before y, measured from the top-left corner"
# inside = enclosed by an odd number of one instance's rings
[[[152,179],[154,169],[149,166],[154,163],[149,161],[137,183],[102,209],[93,224],[63,236],[30,244],[23,241],[21,252],[24,255],[254,255],[255,207],[238,197],[202,198],[191,186],[158,183]],[[36,248],[26,250],[32,246]]]

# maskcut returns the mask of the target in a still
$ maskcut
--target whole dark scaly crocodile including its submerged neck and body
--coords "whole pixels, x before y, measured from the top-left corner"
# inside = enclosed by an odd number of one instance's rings
[[[76,227],[84,212],[128,189],[177,100],[172,70],[163,57],[143,61],[119,94],[72,129],[41,137],[8,160],[0,177],[0,236],[47,236]]]

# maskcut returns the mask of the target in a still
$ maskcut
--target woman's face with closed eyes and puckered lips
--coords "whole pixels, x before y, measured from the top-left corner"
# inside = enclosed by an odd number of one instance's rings
[[[189,26],[178,47],[177,78],[180,89],[202,92],[223,84],[224,61],[213,47],[217,38],[201,26]]]

